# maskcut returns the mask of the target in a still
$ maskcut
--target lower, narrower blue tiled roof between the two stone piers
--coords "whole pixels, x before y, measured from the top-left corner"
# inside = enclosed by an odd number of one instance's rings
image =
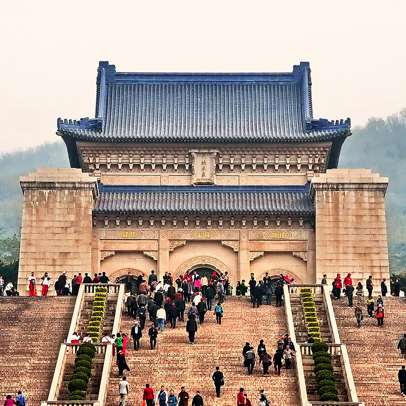
[[[94,213],[314,214],[308,187],[103,186]],[[296,191],[294,191],[296,190]]]

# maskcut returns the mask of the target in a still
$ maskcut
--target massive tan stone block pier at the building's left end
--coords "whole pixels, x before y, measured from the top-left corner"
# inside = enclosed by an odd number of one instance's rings
[[[18,290],[28,294],[27,278],[35,272],[51,277],[50,294],[63,270],[91,273],[92,207],[97,181],[80,169],[46,168],[20,178],[24,193]],[[39,290],[40,287],[37,287]],[[38,292],[41,294],[41,291]]]

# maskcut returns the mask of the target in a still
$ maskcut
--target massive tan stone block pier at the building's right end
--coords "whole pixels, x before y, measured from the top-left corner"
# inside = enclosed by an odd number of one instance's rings
[[[312,179],[316,205],[316,280],[352,274],[354,287],[389,278],[384,196],[388,178],[365,169],[327,170]]]

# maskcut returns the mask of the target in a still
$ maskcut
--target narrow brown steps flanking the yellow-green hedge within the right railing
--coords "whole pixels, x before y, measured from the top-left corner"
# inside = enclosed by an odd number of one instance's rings
[[[315,308],[317,313],[317,318],[320,323],[320,333],[321,339],[324,343],[332,343],[332,336],[330,332],[330,327],[328,324],[328,318],[326,313],[326,308],[324,306],[323,295],[314,294],[313,295]],[[296,340],[298,343],[307,343],[308,341],[308,330],[306,324],[304,323],[303,307],[300,302],[299,296],[290,296],[290,303],[292,307],[293,323],[295,326]]]

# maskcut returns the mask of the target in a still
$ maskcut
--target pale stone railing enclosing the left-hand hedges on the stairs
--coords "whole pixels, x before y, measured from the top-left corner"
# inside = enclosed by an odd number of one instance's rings
[[[80,343],[72,344],[67,343],[70,337],[77,330],[80,320],[80,314],[83,308],[84,298],[87,294],[94,294],[96,287],[107,287],[110,297],[117,297],[117,306],[113,324],[113,334],[117,334],[121,322],[121,313],[124,302],[124,284],[81,284],[79,293],[76,298],[75,308],[72,315],[71,326],[66,338],[66,342],[61,344],[58,354],[58,359],[55,366],[54,376],[51,383],[51,388],[48,395],[48,400],[42,401],[41,406],[104,406],[107,396],[107,385],[110,376],[110,365],[113,359],[113,348],[109,344],[94,343],[97,354],[104,354],[103,371],[101,373],[100,389],[98,398],[95,401],[69,401],[69,400],[56,400],[58,398],[60,385],[63,378],[65,363],[67,355],[75,355],[80,347]]]

